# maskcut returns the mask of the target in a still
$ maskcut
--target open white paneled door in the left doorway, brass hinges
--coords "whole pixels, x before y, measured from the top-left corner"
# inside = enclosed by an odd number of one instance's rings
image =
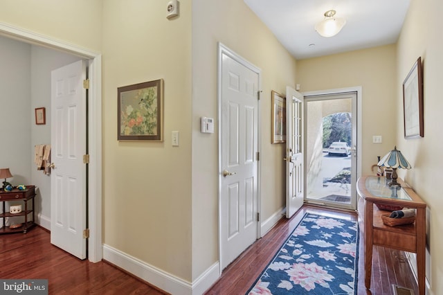
[[[51,243],[80,259],[87,256],[86,62],[51,73]]]

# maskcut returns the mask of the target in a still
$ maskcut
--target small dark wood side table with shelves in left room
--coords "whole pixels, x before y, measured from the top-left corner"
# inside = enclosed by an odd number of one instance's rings
[[[0,235],[3,233],[26,233],[28,229],[35,226],[35,208],[34,208],[35,186],[26,186],[26,189],[19,190],[14,188],[10,192],[0,190],[0,202],[3,203],[3,213],[0,214],[0,218],[3,218],[3,227],[0,229]],[[28,201],[32,200],[32,207],[29,208]],[[6,202],[20,201],[24,204],[24,208],[20,213],[12,214],[6,212]],[[32,214],[33,219],[28,220],[28,215]],[[16,229],[11,229],[10,226],[6,226],[6,217],[24,216],[25,222]]]

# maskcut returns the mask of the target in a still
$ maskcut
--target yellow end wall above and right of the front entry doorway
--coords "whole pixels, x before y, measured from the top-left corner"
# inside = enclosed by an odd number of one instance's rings
[[[371,174],[377,156],[395,145],[397,112],[396,46],[379,46],[297,61],[300,91],[362,87],[362,173]],[[383,143],[372,143],[373,135]]]

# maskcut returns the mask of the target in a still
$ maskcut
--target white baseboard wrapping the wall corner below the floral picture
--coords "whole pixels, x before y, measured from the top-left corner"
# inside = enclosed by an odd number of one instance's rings
[[[203,294],[219,278],[219,262],[209,267],[194,283],[189,283],[106,244],[103,245],[103,259],[170,294]]]

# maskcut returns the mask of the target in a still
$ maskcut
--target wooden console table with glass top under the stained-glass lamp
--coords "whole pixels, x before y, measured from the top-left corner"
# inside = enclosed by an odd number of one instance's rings
[[[419,294],[425,290],[426,204],[402,179],[397,179],[401,188],[387,185],[385,177],[361,177],[357,181],[357,193],[363,201],[363,236],[365,240],[365,287],[370,289],[372,273],[372,246],[388,247],[417,253],[417,278]],[[375,204],[415,208],[414,224],[387,226],[382,214],[391,211],[379,210]],[[359,206],[360,207],[360,206]]]

